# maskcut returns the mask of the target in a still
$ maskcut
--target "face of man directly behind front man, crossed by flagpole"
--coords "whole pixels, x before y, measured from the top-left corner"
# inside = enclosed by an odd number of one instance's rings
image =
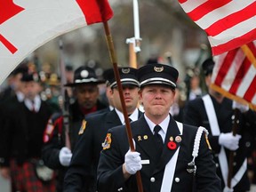
[[[137,108],[139,101],[139,88],[134,85],[123,85],[124,103],[128,114]],[[117,87],[112,89],[112,98],[115,108],[122,111],[122,104]]]

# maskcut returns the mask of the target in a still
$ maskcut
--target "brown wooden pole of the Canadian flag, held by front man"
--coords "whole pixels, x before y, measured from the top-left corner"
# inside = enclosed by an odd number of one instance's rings
[[[118,91],[119,91],[119,96],[120,96],[120,100],[121,100],[121,104],[122,104],[122,109],[123,109],[123,114],[124,114],[124,122],[125,122],[125,127],[126,127],[126,132],[127,132],[129,145],[130,145],[131,151],[135,151],[133,141],[132,141],[131,124],[130,124],[130,121],[129,121],[127,110],[125,108],[124,93],[123,93],[123,88],[122,88],[122,84],[121,84],[120,76],[119,76],[119,71],[118,71],[118,67],[117,67],[116,53],[115,53],[115,49],[114,49],[113,39],[112,39],[112,36],[110,34],[110,30],[108,28],[108,21],[104,21],[103,25],[104,25],[104,29],[105,29],[106,40],[107,40],[107,43],[108,43],[109,56],[110,56],[110,60],[113,64],[114,73],[115,73],[115,77],[116,77],[116,84],[117,84],[117,88],[118,88]],[[141,181],[139,171],[136,172],[136,180],[137,180],[139,192],[143,192],[142,181]]]

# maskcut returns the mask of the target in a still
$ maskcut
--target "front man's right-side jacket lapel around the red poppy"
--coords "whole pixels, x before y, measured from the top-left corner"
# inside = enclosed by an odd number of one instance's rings
[[[180,135],[180,130],[178,128],[178,125],[176,124],[175,120],[171,116],[166,137],[164,140],[163,153],[160,158],[160,161],[156,165],[156,172],[159,172],[162,169],[164,169],[165,165],[171,160],[172,156],[175,154],[177,149],[180,148],[180,143],[182,142],[182,140],[179,140],[180,142],[177,142],[175,140],[177,136],[180,136],[180,138],[182,138],[182,135]],[[176,144],[176,148],[173,148],[173,149],[168,148],[168,143],[170,141],[173,141]]]

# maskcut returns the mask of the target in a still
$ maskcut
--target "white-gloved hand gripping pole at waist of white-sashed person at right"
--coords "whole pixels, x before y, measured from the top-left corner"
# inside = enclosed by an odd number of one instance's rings
[[[236,136],[233,136],[232,132],[220,133],[219,144],[229,150],[236,150],[239,147],[238,144],[240,139],[241,135],[236,134]]]

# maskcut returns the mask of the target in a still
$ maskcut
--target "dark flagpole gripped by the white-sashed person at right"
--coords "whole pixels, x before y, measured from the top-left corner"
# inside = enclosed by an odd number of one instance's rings
[[[233,136],[236,136],[237,128],[239,125],[239,109],[235,108],[234,110],[234,116],[232,116],[233,119],[233,126],[232,126],[232,133]],[[228,159],[228,188],[231,187],[231,180],[233,177],[233,162],[234,162],[234,151],[230,151],[229,153],[229,159]]]

